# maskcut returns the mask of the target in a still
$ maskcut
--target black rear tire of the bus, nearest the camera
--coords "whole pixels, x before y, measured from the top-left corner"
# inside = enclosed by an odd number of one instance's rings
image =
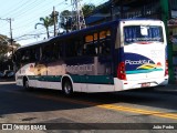
[[[73,94],[73,86],[70,80],[65,80],[63,82],[62,91],[66,96],[71,96]]]

